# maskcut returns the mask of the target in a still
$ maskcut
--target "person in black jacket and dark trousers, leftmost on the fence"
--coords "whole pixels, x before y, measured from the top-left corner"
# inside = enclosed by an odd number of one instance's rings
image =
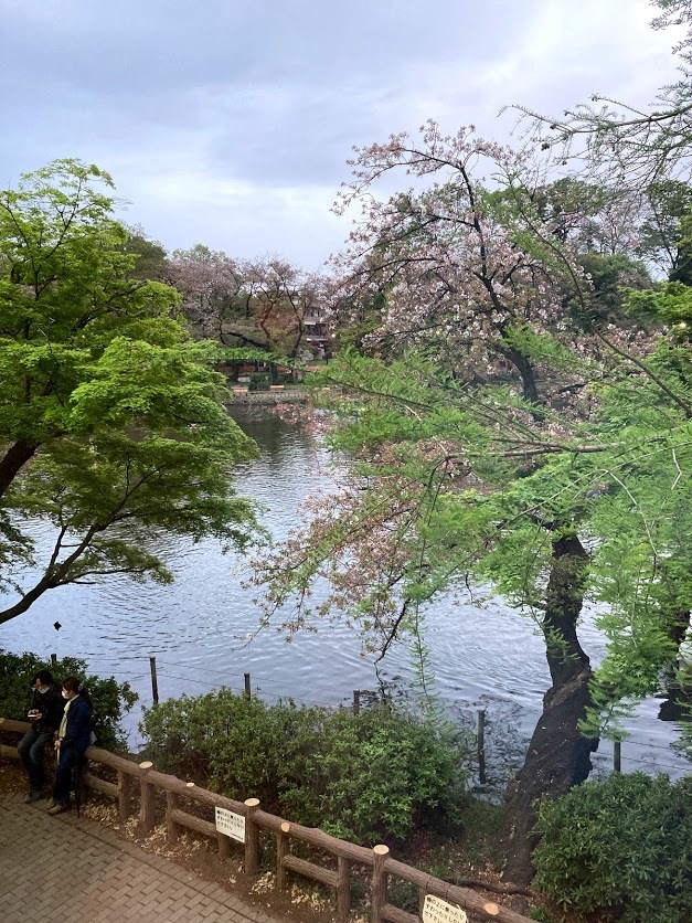
[[[65,701],[60,694],[60,686],[53,681],[51,671],[39,670],[33,678],[33,696],[28,715],[31,729],[17,745],[20,760],[29,774],[29,794],[24,798],[28,805],[41,797],[45,784],[45,745],[53,743],[64,708]]]

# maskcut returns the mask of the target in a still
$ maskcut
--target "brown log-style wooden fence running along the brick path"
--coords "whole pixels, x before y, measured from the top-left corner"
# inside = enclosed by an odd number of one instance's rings
[[[30,725],[26,722],[0,718],[0,731],[24,733],[29,728]],[[17,747],[7,744],[0,744],[0,756],[19,758]],[[336,892],[337,919],[339,921],[349,919],[351,872],[353,866],[360,866],[371,870],[371,923],[384,923],[384,921],[419,923],[426,894],[433,894],[444,901],[457,904],[479,920],[496,920],[498,923],[531,923],[526,916],[487,901],[468,888],[459,888],[406,866],[404,862],[396,861],[390,856],[390,849],[386,846],[380,845],[373,849],[356,846],[332,837],[315,827],[304,827],[300,824],[285,820],[283,817],[267,814],[260,809],[257,798],[236,802],[233,798],[226,798],[224,795],[200,788],[193,782],[183,782],[175,776],[157,772],[150,762],[136,763],[98,746],[89,746],[86,756],[88,764],[84,771],[84,783],[117,802],[121,821],[127,820],[137,811],[142,832],[151,831],[157,819],[163,819],[167,837],[171,844],[177,841],[181,830],[189,829],[215,839],[220,859],[227,859],[234,848],[243,849],[244,870],[251,877],[257,874],[258,871],[260,831],[274,835],[276,838],[277,889],[286,888],[288,871],[329,885]],[[96,775],[93,772],[95,765],[115,770],[117,783],[108,782]],[[161,814],[161,808],[157,805],[158,792],[166,794],[163,818],[157,818],[157,813]],[[185,811],[181,807],[181,799],[190,799],[209,807],[214,810],[214,816],[217,807],[241,815],[245,821],[244,842],[236,844],[226,834],[220,832],[214,821],[205,820]],[[336,868],[323,868],[292,855],[290,851],[291,841],[308,844],[323,850],[333,857],[336,862],[332,861],[332,864],[336,864]],[[388,902],[388,885],[392,878],[407,881],[417,888],[418,914],[408,913]]]

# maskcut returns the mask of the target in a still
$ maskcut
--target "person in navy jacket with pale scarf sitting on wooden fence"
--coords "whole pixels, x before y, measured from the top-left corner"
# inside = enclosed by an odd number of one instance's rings
[[[63,698],[67,703],[55,741],[57,768],[53,797],[49,802],[49,814],[53,815],[70,808],[72,774],[78,774],[92,736],[92,699],[76,677],[63,681]]]

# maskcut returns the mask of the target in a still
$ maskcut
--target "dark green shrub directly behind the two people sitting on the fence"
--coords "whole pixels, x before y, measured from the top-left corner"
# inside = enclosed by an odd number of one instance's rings
[[[35,654],[7,654],[0,650],[0,714],[26,720],[31,699],[31,686],[39,670],[50,670],[56,682],[68,676],[76,676],[84,682],[94,701],[93,728],[98,746],[106,750],[124,750],[125,733],[121,726],[124,712],[137,701],[137,693],[129,683],[118,682],[87,673],[87,665],[75,657],[65,657],[55,665],[46,662]]]

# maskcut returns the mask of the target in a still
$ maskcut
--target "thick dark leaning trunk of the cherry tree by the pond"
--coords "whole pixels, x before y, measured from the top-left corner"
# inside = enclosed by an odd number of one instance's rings
[[[584,782],[592,770],[590,754],[598,746],[597,740],[582,736],[577,726],[590,703],[592,669],[576,634],[587,560],[576,535],[557,539],[553,544],[542,626],[553,685],[543,699],[543,714],[524,765],[508,789],[502,837],[504,878],[521,887],[526,887],[533,877],[531,853],[537,838],[531,830],[536,819],[535,799],[558,797]]]

